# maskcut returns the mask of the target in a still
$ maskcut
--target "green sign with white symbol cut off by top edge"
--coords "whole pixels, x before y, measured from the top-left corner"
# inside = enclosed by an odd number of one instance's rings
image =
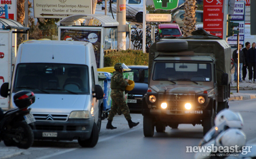
[[[178,7],[179,0],[153,0],[155,9],[171,10]]]

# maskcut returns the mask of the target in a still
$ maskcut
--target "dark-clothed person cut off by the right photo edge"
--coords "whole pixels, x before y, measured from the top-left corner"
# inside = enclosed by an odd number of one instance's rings
[[[248,62],[248,72],[249,72],[249,82],[252,82],[252,73],[253,73],[253,81],[256,79],[255,74],[255,62],[256,62],[256,50],[255,50],[255,43],[252,43],[252,48],[250,48],[247,52],[247,62]],[[252,72],[253,68],[253,72]]]

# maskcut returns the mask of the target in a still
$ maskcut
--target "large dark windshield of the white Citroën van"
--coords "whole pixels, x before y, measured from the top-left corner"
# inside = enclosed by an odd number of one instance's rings
[[[88,94],[88,77],[87,65],[20,63],[16,68],[13,92]]]

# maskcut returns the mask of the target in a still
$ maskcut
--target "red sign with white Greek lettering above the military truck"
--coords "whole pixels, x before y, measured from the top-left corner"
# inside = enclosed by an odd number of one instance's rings
[[[203,29],[223,38],[223,0],[203,0]]]

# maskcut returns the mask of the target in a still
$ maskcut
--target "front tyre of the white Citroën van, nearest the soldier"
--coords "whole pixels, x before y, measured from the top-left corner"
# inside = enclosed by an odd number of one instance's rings
[[[98,143],[98,139],[99,139],[98,126],[94,122],[94,124],[92,126],[92,134],[91,134],[90,138],[87,140],[78,139],[78,143],[83,148],[86,148],[86,147],[93,148]]]

